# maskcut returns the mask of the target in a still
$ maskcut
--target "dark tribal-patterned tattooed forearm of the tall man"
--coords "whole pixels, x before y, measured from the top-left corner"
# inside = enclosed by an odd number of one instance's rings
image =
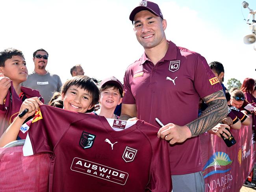
[[[199,118],[186,125],[190,129],[192,137],[208,131],[228,114],[228,105],[223,90],[219,90],[202,99],[208,107]]]

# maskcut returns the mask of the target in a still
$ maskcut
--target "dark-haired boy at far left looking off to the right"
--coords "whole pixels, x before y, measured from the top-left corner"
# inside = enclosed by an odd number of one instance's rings
[[[8,48],[0,52],[0,135],[18,115],[26,98],[40,97],[39,91],[20,86],[28,78],[24,55]]]

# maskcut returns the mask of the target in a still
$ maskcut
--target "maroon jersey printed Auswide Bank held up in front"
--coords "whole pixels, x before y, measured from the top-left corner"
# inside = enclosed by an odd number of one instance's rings
[[[47,105],[40,110],[23,153],[51,153],[51,192],[172,190],[168,143],[157,127]]]

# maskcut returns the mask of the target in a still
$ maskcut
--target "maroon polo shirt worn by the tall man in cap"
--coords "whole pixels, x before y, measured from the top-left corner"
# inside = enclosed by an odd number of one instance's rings
[[[221,84],[204,57],[169,42],[167,53],[154,65],[144,53],[128,66],[124,76],[124,104],[136,104],[137,118],[160,127],[184,126],[198,118],[199,98],[218,90]],[[172,175],[202,170],[199,137],[169,147]]]

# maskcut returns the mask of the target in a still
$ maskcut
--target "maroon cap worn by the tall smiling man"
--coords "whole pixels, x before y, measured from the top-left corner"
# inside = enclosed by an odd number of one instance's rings
[[[139,6],[135,7],[134,10],[132,10],[132,13],[130,14],[130,20],[133,22],[134,21],[134,16],[139,12],[143,10],[148,10],[151,13],[153,13],[156,16],[159,16],[163,19],[163,14],[158,7],[158,4],[153,3],[151,1],[141,1],[139,2]]]

